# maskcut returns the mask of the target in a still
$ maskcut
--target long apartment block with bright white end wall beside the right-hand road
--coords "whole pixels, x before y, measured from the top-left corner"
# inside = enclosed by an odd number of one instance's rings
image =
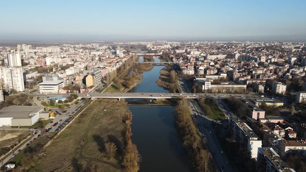
[[[229,131],[239,141],[240,147],[250,153],[251,158],[257,158],[258,148],[261,147],[262,141],[246,123],[236,116],[230,117]]]

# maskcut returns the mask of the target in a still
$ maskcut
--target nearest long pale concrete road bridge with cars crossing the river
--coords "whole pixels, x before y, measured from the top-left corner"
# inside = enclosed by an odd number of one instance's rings
[[[188,94],[188,93],[71,93],[77,94],[79,97],[94,98],[111,98],[111,99],[127,99],[127,98],[145,98],[145,99],[197,99],[204,97],[204,94]],[[33,96],[57,96],[69,94],[31,94]]]

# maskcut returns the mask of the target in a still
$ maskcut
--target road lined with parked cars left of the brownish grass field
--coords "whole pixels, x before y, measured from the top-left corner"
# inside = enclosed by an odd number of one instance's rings
[[[83,106],[84,105],[84,103],[83,103],[83,101],[81,100],[77,105],[76,104],[74,104],[73,106],[71,106],[68,110],[67,110],[67,114],[69,114],[69,113],[71,113],[71,112],[73,112],[73,111],[76,111],[76,108],[78,107],[78,106]],[[54,111],[55,112],[55,109],[52,109],[51,108],[51,110],[52,111]],[[59,110],[57,110],[58,112],[60,112]],[[65,113],[62,113],[62,112],[60,112],[62,115],[58,115],[56,118],[54,118],[53,119],[53,123],[54,122],[65,122],[65,120],[67,119],[67,118],[69,118],[69,116],[68,115],[65,115]],[[62,121],[60,121],[60,120],[62,120]],[[53,123],[48,123],[46,126],[45,126],[45,129],[48,129],[51,125],[53,125]],[[60,123],[61,124],[61,123]],[[50,130],[50,132],[54,132],[54,130],[58,127],[59,125],[57,125],[57,126],[55,126],[55,127],[53,127],[53,129],[51,129]],[[0,129],[2,129],[2,127],[0,127]],[[5,128],[3,128],[4,130],[29,130],[29,132],[30,132],[30,129],[17,129],[17,128],[10,128],[10,127],[5,127]],[[34,134],[35,133],[35,129],[32,129],[32,137],[31,137],[31,140],[33,140],[34,138],[37,138],[37,135],[38,134],[41,134],[41,132],[40,132],[40,130],[38,129],[38,132],[37,132],[37,134]],[[26,144],[27,144],[28,142],[25,142],[24,144],[22,144],[18,149],[21,149],[21,150],[23,150],[24,148],[26,148]],[[16,148],[15,148],[16,149]],[[12,155],[13,155],[13,153],[15,153],[15,154],[17,154],[18,152],[18,149],[16,150],[16,151],[14,151],[14,152],[11,152],[10,154],[9,154],[9,156],[7,157],[7,158],[5,158],[5,159],[1,159],[1,163],[2,163],[2,165],[5,165],[6,163],[8,163],[9,162],[9,160],[12,158]],[[1,165],[1,166],[2,166]],[[2,172],[1,170],[0,170],[0,172]]]

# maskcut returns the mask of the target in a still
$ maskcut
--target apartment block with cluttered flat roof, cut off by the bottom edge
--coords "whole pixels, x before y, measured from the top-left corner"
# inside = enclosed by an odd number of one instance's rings
[[[273,148],[258,148],[256,166],[262,172],[295,172]]]

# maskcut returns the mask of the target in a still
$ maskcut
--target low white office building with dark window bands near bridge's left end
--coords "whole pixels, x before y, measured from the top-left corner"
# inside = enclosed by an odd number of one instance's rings
[[[47,80],[38,84],[40,93],[58,93],[64,87],[62,80]]]

